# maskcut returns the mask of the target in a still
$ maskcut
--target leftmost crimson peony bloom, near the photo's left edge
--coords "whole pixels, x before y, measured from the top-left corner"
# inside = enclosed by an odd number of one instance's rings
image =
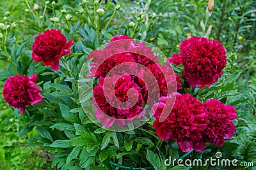
[[[4,100],[10,106],[19,108],[22,115],[27,105],[42,101],[40,89],[35,84],[36,78],[36,74],[32,74],[30,77],[15,75],[9,77],[4,84]]]

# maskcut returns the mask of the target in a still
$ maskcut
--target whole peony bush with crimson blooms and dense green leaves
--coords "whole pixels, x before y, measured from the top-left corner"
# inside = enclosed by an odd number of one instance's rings
[[[148,4],[122,29],[111,25],[122,11],[109,1],[83,1],[77,16],[56,12],[52,2],[51,18],[27,5],[38,31],[33,44],[20,45],[29,49],[26,58],[19,51],[6,58],[11,75],[4,77],[3,96],[21,113],[13,115],[24,121],[21,135],[37,129],[28,145],[54,155],[56,168],[168,169],[170,156],[206,158],[232,145],[225,139],[235,134],[237,113],[223,96],[227,85],[237,87],[221,76],[228,54],[219,41],[192,36],[180,53],[165,57],[136,39],[147,39],[160,17],[143,13]]]

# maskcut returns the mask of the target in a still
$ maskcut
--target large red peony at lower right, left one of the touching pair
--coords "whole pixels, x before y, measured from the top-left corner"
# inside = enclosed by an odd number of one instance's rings
[[[159,103],[152,107],[153,117],[156,117],[153,126],[156,134],[163,140],[175,140],[182,152],[189,152],[192,148],[200,152],[205,143],[201,141],[206,129],[207,117],[204,104],[190,94],[177,93],[172,108],[173,94],[159,98]],[[164,108],[167,108],[164,111]],[[162,114],[168,112],[168,117],[160,122]]]

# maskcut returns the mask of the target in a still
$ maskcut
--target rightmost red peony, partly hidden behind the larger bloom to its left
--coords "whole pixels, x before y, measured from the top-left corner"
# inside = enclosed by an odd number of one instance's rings
[[[222,146],[224,139],[231,138],[236,131],[232,122],[236,119],[236,109],[233,106],[225,106],[217,99],[208,99],[204,106],[209,124],[204,130],[203,141]]]

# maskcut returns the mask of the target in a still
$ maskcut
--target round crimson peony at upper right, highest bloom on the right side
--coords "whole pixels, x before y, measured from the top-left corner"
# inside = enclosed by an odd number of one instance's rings
[[[180,43],[180,53],[173,53],[168,59],[173,64],[183,64],[183,76],[188,78],[192,87],[200,89],[210,86],[223,74],[227,64],[226,51],[216,40],[204,37],[192,37]]]

